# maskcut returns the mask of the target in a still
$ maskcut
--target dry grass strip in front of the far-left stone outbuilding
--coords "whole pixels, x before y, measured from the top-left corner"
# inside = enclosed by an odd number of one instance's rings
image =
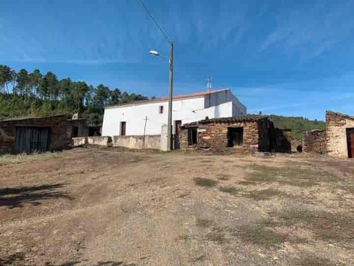
[[[0,156],[0,166],[16,165],[27,162],[44,161],[52,158],[59,158],[62,155],[56,152],[32,153],[32,154],[5,154]]]

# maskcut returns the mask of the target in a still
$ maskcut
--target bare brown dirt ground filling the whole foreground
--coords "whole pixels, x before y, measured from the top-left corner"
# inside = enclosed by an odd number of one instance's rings
[[[0,166],[0,265],[354,265],[354,161],[77,148]]]

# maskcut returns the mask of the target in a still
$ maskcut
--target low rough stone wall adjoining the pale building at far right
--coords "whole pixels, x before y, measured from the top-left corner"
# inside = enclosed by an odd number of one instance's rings
[[[312,130],[302,134],[302,151],[304,153],[326,153],[326,133],[324,130]]]

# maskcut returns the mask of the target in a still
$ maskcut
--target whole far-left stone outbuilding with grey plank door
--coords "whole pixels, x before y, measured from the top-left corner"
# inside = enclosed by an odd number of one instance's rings
[[[62,150],[68,144],[67,116],[0,121],[0,153]]]

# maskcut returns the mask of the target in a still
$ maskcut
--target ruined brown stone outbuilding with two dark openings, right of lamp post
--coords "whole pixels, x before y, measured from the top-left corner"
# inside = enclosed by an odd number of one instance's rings
[[[275,129],[266,116],[260,115],[206,118],[185,124],[179,132],[179,146],[184,150],[228,150],[237,153],[291,151],[291,143],[284,132]]]

